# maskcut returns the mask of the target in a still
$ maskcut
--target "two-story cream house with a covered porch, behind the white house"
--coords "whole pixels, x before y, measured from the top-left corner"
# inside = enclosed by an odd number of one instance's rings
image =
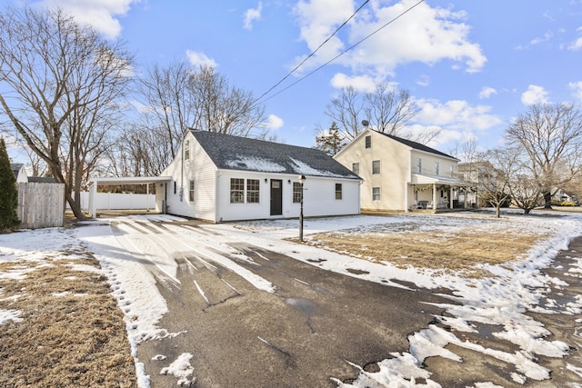
[[[410,140],[366,129],[334,158],[362,177],[370,211],[445,210],[467,206],[458,159]]]

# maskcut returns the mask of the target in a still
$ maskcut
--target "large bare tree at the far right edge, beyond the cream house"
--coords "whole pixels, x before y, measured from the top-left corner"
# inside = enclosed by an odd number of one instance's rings
[[[582,171],[582,113],[574,104],[532,105],[509,125],[506,137],[527,154],[527,175],[540,187],[546,207]]]

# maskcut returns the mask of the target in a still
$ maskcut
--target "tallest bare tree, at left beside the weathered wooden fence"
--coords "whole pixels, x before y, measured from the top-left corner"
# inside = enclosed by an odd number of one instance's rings
[[[0,106],[83,218],[73,193],[105,147],[132,58],[60,9],[9,6],[0,25]]]

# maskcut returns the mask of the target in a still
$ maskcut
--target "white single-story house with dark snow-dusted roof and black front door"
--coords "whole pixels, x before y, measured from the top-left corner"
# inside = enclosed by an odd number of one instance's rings
[[[359,214],[361,179],[322,151],[190,131],[156,184],[156,207],[215,223]],[[305,184],[298,177],[306,177]]]

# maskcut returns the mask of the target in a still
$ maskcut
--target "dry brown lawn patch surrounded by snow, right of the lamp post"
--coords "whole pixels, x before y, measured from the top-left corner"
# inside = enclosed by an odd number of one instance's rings
[[[311,235],[306,244],[399,268],[430,268],[469,277],[490,275],[477,264],[504,264],[522,257],[547,237],[524,230],[483,230],[467,226],[422,230],[406,224],[383,232],[339,231]]]

